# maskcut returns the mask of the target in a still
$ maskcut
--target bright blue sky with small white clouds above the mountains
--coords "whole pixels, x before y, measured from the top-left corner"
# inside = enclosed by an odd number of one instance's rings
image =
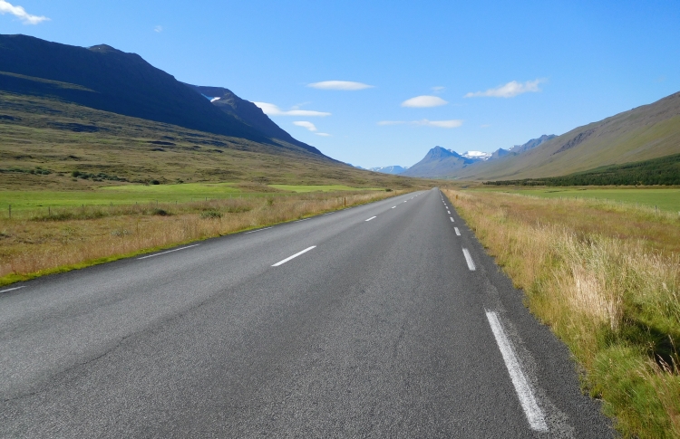
[[[295,138],[362,167],[510,148],[680,91],[675,0],[0,0],[0,13],[0,33],[107,43],[270,104]]]

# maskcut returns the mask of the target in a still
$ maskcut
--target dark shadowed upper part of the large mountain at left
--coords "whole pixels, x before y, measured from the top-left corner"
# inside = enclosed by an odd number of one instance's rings
[[[0,78],[0,91],[49,96],[95,110],[272,143],[272,127],[267,132],[257,129],[257,124],[220,110],[141,56],[105,44],[84,48],[0,35]],[[305,149],[321,154],[308,145]]]

